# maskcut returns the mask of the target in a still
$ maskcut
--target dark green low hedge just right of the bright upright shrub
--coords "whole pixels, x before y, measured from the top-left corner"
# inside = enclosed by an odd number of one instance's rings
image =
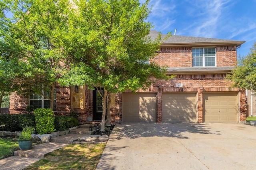
[[[55,116],[54,126],[56,131],[64,131],[78,126],[78,120],[70,116]]]

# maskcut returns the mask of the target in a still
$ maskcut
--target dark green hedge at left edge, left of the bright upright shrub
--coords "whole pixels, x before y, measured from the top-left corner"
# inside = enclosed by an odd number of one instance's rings
[[[24,127],[35,127],[34,114],[0,115],[0,130],[21,131]]]

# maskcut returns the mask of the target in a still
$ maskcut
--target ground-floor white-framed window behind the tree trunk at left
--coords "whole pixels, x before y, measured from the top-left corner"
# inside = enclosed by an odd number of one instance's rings
[[[37,108],[50,108],[50,92],[44,92],[44,95],[29,95],[29,105]],[[54,111],[56,111],[56,90],[54,89]]]

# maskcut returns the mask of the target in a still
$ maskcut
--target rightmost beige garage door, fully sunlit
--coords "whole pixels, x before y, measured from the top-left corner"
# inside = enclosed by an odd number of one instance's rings
[[[203,93],[204,122],[238,122],[238,93]]]

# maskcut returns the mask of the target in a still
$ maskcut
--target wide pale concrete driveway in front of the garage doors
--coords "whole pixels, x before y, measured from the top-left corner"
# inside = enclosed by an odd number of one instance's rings
[[[256,169],[256,127],[240,123],[118,124],[96,169]]]

